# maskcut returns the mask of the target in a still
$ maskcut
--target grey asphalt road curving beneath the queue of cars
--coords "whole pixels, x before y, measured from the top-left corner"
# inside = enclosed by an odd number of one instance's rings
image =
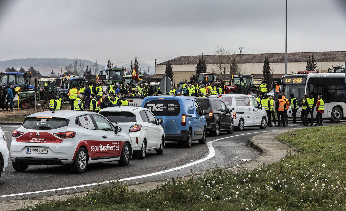
[[[6,134],[10,148],[12,132],[18,126],[0,127]],[[134,157],[126,167],[119,166],[117,162],[90,164],[84,174],[73,174],[66,166],[55,165],[31,165],[25,172],[16,172],[9,160],[9,166],[0,178],[0,201],[81,192],[86,187],[92,188],[94,183],[109,180],[143,183],[191,175],[191,171],[202,173],[216,165],[233,166],[243,163],[242,159],[253,159],[260,155],[247,146],[251,136],[278,129],[281,128],[267,127],[261,130],[259,127],[245,127],[244,131],[235,131],[233,134],[220,132],[217,137],[208,134],[207,144],[193,141],[191,148],[166,142],[163,155],[150,151],[144,160]]]

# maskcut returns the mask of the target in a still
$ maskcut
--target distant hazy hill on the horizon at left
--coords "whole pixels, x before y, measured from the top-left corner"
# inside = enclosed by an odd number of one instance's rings
[[[84,61],[85,67],[93,66],[95,63],[89,60],[82,59]],[[20,67],[24,67],[28,70],[29,67],[34,67],[35,70],[39,70],[40,73],[46,74],[52,70],[56,73],[60,73],[61,68],[65,69],[65,66],[73,64],[73,59],[69,58],[20,58],[11,59],[7,61],[0,61],[0,72],[4,72],[7,67],[14,67],[18,70]],[[103,65],[99,65],[99,70],[104,68]]]

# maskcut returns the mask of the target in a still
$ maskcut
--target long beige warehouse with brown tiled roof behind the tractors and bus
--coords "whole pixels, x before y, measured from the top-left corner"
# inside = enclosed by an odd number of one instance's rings
[[[307,65],[307,59],[312,56],[312,53],[320,68],[320,72],[328,70],[332,65],[345,65],[346,51],[331,51],[331,52],[302,52],[302,53],[288,53],[287,54],[287,73],[292,74],[298,71],[304,71]],[[285,53],[271,53],[271,54],[234,54],[222,55],[226,57],[229,63],[235,57],[236,62],[242,67],[243,74],[254,74],[255,84],[258,84],[263,75],[264,58],[267,56],[270,66],[273,68],[274,79],[281,79],[285,74]],[[175,84],[180,81],[190,80],[192,74],[195,74],[196,65],[201,56],[180,56],[169,60],[173,67]],[[217,71],[218,55],[203,55],[207,63],[207,72]],[[163,77],[166,68],[166,62],[157,64],[155,66],[155,77]],[[162,78],[161,77],[161,78]],[[225,81],[226,84],[229,80]]]

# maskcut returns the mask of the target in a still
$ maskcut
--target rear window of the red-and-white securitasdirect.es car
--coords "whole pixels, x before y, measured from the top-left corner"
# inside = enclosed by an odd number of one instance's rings
[[[69,119],[57,117],[29,117],[25,118],[23,127],[33,130],[52,130],[69,125]]]

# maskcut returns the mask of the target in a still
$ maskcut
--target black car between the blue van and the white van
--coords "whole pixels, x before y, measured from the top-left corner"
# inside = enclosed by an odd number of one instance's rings
[[[234,131],[232,110],[228,109],[224,102],[217,97],[195,98],[202,110],[206,110],[207,131],[212,131],[218,136],[220,130],[231,134]]]

